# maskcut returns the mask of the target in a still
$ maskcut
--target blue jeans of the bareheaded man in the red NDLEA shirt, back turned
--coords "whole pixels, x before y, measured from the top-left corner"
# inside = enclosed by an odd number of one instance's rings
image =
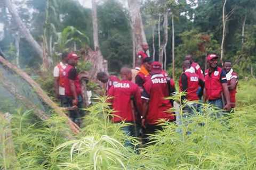
[[[137,138],[139,135],[139,132],[138,132],[139,128],[135,124],[126,125],[126,126],[122,127],[122,131],[124,132],[125,135],[127,135],[129,137]],[[124,146],[134,148],[134,145],[130,140],[125,140]]]

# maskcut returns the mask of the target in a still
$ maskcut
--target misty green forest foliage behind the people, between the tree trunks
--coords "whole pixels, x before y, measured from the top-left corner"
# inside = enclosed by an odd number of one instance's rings
[[[204,65],[206,54],[221,55],[224,2],[138,1],[150,56],[166,61],[167,68],[174,54],[175,67],[179,69],[182,58],[187,54],[194,55],[201,65]],[[86,47],[93,49],[92,8],[87,5],[89,2],[16,0],[11,3],[31,35],[43,47],[51,63],[60,60],[59,53],[63,50],[82,50]],[[108,61],[109,71],[118,72],[123,65],[132,66],[133,30],[130,24],[129,3],[118,0],[101,0],[96,3],[99,45],[103,58]],[[234,61],[235,68],[245,77],[248,76],[247,73],[253,75],[256,69],[255,3],[252,0],[235,0],[226,1],[225,4],[223,60]],[[3,53],[8,60],[23,69],[37,69],[42,65],[42,57],[30,47],[25,35],[20,33],[20,28],[4,1],[1,4],[0,47]],[[163,47],[166,49],[166,59],[162,60]]]

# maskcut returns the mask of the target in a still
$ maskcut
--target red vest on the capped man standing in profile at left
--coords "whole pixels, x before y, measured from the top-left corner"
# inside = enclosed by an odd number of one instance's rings
[[[68,73],[69,71],[73,69],[73,66],[68,65],[65,69],[66,75],[65,75],[65,81],[64,81],[64,87],[65,87],[65,95],[66,96],[70,96],[72,97],[73,94],[71,92],[71,88],[70,88],[70,83],[69,83],[69,79],[68,79]],[[75,87],[76,87],[76,94],[77,95],[81,95],[82,94],[82,90],[81,90],[81,83],[80,80],[78,78],[78,75],[76,75],[76,80],[75,80]]]

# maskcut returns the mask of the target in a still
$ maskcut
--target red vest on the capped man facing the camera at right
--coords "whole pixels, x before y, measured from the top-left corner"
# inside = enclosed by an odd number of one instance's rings
[[[222,69],[217,67],[216,71],[211,73],[209,76],[209,69],[205,72],[205,90],[206,90],[206,99],[215,100],[221,98],[222,84],[220,82],[220,74]]]

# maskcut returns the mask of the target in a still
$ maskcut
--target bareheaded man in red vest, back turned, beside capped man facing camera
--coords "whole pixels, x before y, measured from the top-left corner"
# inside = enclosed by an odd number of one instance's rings
[[[186,96],[182,96],[182,101],[184,99],[187,99],[188,101],[199,100],[203,94],[201,93],[197,95],[197,91],[200,87],[204,89],[204,81],[199,79],[199,76],[195,73],[193,67],[191,67],[190,61],[185,60],[182,67],[183,73],[181,74],[179,80],[180,92],[187,92]],[[197,104],[193,104],[192,107],[197,109]],[[185,106],[185,112],[188,112],[187,114],[193,114],[193,108]]]

